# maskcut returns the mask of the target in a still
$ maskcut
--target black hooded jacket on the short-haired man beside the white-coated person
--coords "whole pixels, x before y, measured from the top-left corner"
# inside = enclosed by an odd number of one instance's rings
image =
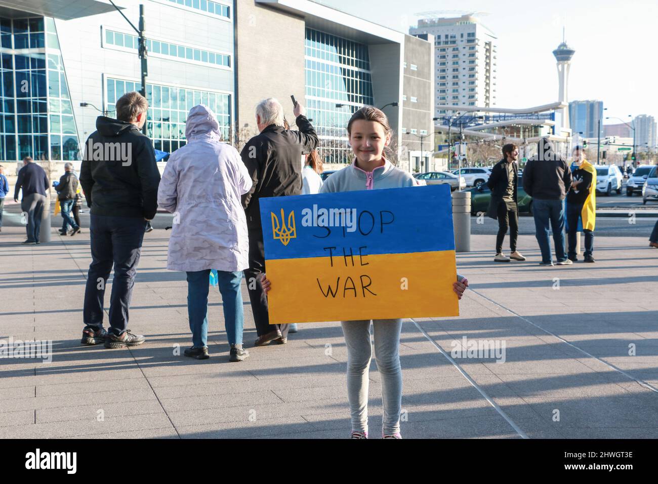
[[[160,172],[151,140],[134,124],[99,116],[85,145],[80,184],[91,215],[153,219]]]

